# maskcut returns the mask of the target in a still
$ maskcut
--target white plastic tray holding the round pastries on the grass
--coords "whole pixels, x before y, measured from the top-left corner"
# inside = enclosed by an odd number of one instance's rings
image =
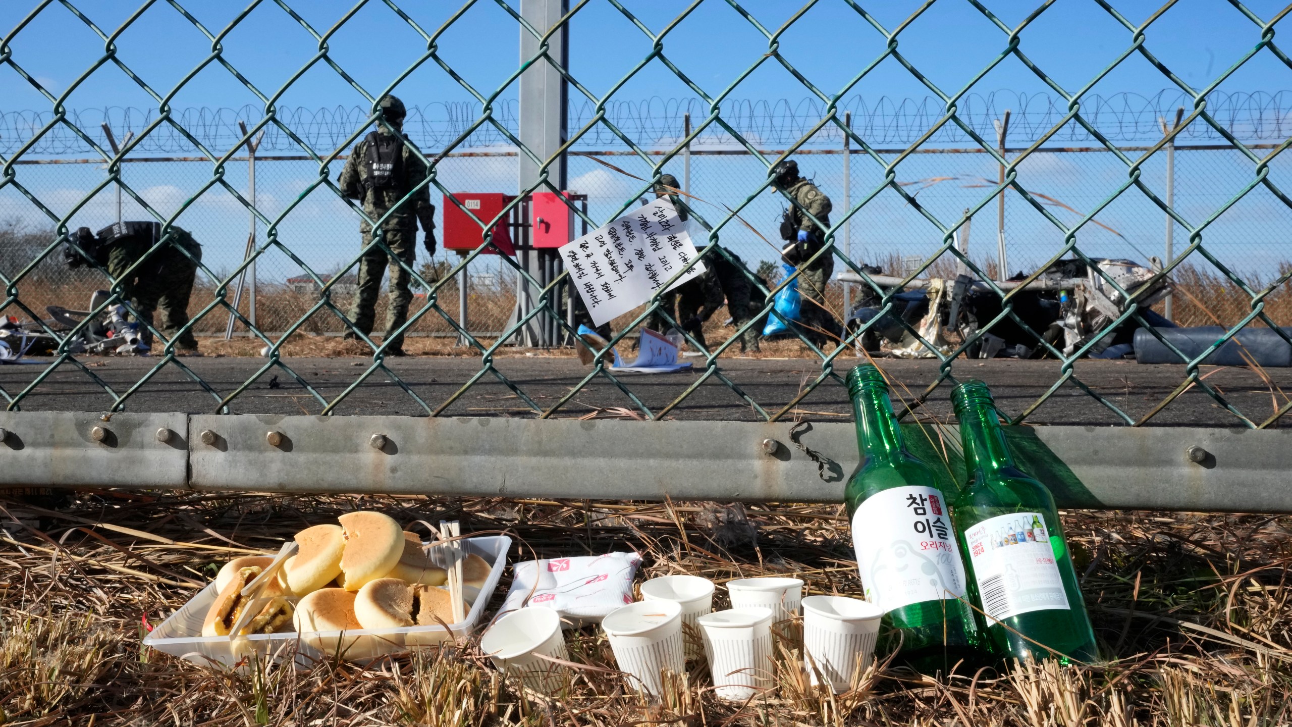
[[[253,634],[230,642],[229,636],[203,636],[202,624],[211,611],[211,604],[218,595],[216,585],[211,583],[193,596],[183,608],[174,612],[160,626],[143,638],[143,646],[186,658],[195,664],[224,664],[233,666],[243,658],[260,655],[279,660],[295,648],[296,661],[309,665],[318,658],[340,655],[349,661],[371,661],[388,653],[399,653],[422,647],[437,646],[448,639],[466,635],[484,614],[497,581],[506,568],[506,554],[512,548],[512,538],[506,536],[487,536],[461,541],[468,554],[475,554],[492,563],[488,580],[481,589],[466,621],[452,624],[448,631],[443,626],[404,626],[401,629],[359,629],[354,631],[309,631],[304,634]],[[422,543],[432,545],[432,543]],[[439,548],[430,548],[432,559]],[[442,563],[441,563],[442,564]]]

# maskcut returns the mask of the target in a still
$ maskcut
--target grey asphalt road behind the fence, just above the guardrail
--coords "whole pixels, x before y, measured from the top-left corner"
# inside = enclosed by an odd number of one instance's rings
[[[124,392],[154,365],[152,358],[93,358],[87,360],[90,370],[118,392]],[[227,395],[253,376],[265,364],[261,358],[193,357],[183,358],[209,385]],[[284,362],[307,380],[322,396],[339,396],[370,361],[363,358],[286,358]],[[836,371],[841,375],[857,364],[854,358],[841,358]],[[882,361],[884,367],[911,393],[912,398],[937,376],[935,361]],[[472,375],[479,370],[479,360],[448,357],[407,357],[390,364],[402,378],[432,407],[441,406]],[[518,356],[496,360],[497,370],[523,389],[540,406],[552,406],[565,396],[588,369],[570,357]],[[1275,397],[1282,404],[1282,393],[1292,389],[1292,370],[1270,369],[1267,384],[1257,374],[1245,369],[1216,369],[1207,382],[1220,388],[1224,396],[1257,423],[1273,411]],[[40,365],[0,367],[0,385],[10,395],[26,388],[45,370]],[[819,375],[819,366],[811,360],[755,360],[729,358],[720,361],[720,370],[730,378],[766,411],[784,407],[802,388]],[[1058,378],[1059,366],[1054,361],[959,360],[952,367],[960,379],[978,378],[987,382],[1003,410],[1017,414],[1040,397]],[[270,379],[276,374],[275,385]],[[1140,418],[1152,410],[1183,379],[1183,366],[1138,365],[1133,361],[1081,361],[1075,374],[1092,389]],[[642,402],[658,411],[680,396],[698,378],[698,371],[676,374],[621,374],[621,380]],[[929,397],[924,413],[944,418],[951,413],[950,385],[942,384]],[[43,380],[23,401],[25,410],[99,411],[111,405],[111,398],[84,371],[63,365]],[[597,409],[632,407],[632,401],[607,379],[598,376],[578,393],[557,414],[581,417]],[[216,400],[190,379],[177,366],[167,366],[145,383],[127,402],[130,411],[186,411],[212,413]],[[234,400],[231,410],[239,414],[318,414],[322,405],[284,371],[269,371]],[[837,422],[850,417],[850,405],[844,387],[827,380],[796,405],[796,415],[802,419]],[[336,414],[403,414],[424,415],[425,410],[398,384],[381,373],[375,374],[342,401]],[[492,374],[486,374],[465,395],[459,397],[446,415],[456,417],[531,417],[530,409]],[[669,413],[677,419],[758,420],[758,414],[730,388],[711,376],[681,405]],[[1037,424],[1119,424],[1121,420],[1102,404],[1065,383],[1054,396],[1028,417]],[[1236,427],[1242,422],[1222,409],[1211,396],[1196,387],[1173,401],[1152,420],[1155,426]]]

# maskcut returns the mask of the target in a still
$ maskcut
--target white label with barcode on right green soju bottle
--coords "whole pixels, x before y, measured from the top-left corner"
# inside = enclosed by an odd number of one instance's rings
[[[1068,609],[1040,512],[1000,515],[965,532],[987,624],[1047,608]]]

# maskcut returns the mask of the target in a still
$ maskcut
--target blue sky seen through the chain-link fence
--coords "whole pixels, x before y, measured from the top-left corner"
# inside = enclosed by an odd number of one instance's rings
[[[211,32],[218,34],[245,5],[224,0],[189,0],[181,3]],[[351,12],[351,3],[333,0],[298,0],[292,3],[296,12],[317,31],[326,32],[339,18]],[[406,1],[403,9],[428,32],[434,32],[452,13],[457,3]],[[642,23],[662,28],[687,4],[677,1],[625,1]],[[868,4],[877,22],[888,28],[898,26],[917,3],[888,0]],[[1025,3],[988,3],[1006,25],[1021,22],[1032,9]],[[1261,17],[1271,17],[1282,5],[1257,1],[1248,4]],[[0,28],[14,27],[34,6],[32,3],[10,0],[0,4]],[[112,32],[134,13],[137,1],[81,0],[78,6],[105,32]],[[749,0],[742,3],[751,16],[765,27],[774,30],[800,10],[797,3]],[[1130,22],[1142,22],[1158,9],[1155,3],[1116,3]],[[1278,30],[1286,27],[1283,21]],[[492,0],[481,0],[468,8],[438,41],[438,52],[472,85],[482,93],[492,93],[517,67],[518,28],[514,21]],[[1146,47],[1172,69],[1185,83],[1200,88],[1218,76],[1260,40],[1260,28],[1227,3],[1217,0],[1181,0],[1168,9],[1146,34]],[[1074,91],[1097,75],[1130,43],[1130,32],[1118,25],[1107,12],[1090,0],[1061,0],[1047,9],[1028,27],[1021,39],[1022,50],[1036,65],[1050,74],[1056,83]],[[915,19],[901,35],[899,49],[932,83],[946,92],[959,91],[979,69],[991,62],[1005,48],[1006,35],[988,23],[965,0],[939,0]],[[116,41],[119,58],[162,94],[196,67],[209,53],[211,43],[172,5],[158,1],[145,10],[138,21],[124,30]],[[22,32],[10,40],[13,61],[21,65],[52,93],[61,94],[85,69],[103,53],[103,43],[72,13],[59,4],[43,10]],[[317,41],[284,10],[270,1],[260,3],[247,19],[231,30],[222,41],[224,57],[245,75],[265,94],[274,94],[284,81],[302,67],[315,53]],[[827,94],[837,93],[862,67],[881,53],[882,36],[855,10],[837,0],[822,0],[810,6],[802,18],[780,36],[780,52],[806,78]],[[339,28],[329,40],[329,57],[344,67],[357,83],[371,93],[377,93],[391,79],[413,63],[425,50],[425,41],[384,3],[372,0],[354,10],[353,18]],[[708,93],[720,93],[727,84],[767,50],[766,39],[727,3],[705,0],[671,32],[664,41],[664,53]],[[571,26],[571,72],[593,94],[601,96],[616,84],[641,58],[650,52],[650,40],[606,0],[590,0],[576,16]],[[1164,88],[1174,88],[1163,74],[1138,54],[1102,79],[1092,93],[1138,93],[1151,96]],[[1017,58],[1006,58],[974,85],[974,93],[987,94],[1008,89],[1016,93],[1044,93],[1047,87]],[[1261,52],[1230,76],[1222,92],[1267,92],[1292,89],[1292,70],[1271,53]],[[433,102],[470,101],[472,96],[433,62],[413,71],[395,89],[406,102],[425,105]],[[894,60],[884,61],[862,83],[848,92],[866,100],[889,97],[924,98],[930,91]],[[501,98],[516,98],[516,84],[500,93]],[[652,62],[630,79],[615,96],[616,100],[643,101],[649,98],[682,98],[694,93],[687,89],[662,63]],[[810,96],[791,74],[774,60],[765,61],[735,91],[733,98],[751,101],[789,100],[797,102]],[[580,100],[571,89],[571,98]],[[172,100],[174,109],[260,106],[260,101],[220,65],[211,65],[177,91]],[[283,107],[351,107],[364,103],[363,96],[348,85],[331,67],[317,63],[282,93]],[[155,106],[121,70],[114,65],[98,69],[94,75],[71,93],[67,106],[72,109],[102,109],[107,106]],[[0,113],[18,110],[48,111],[50,103],[40,96],[13,69],[0,66]],[[1109,163],[1109,155],[1094,160],[1093,155],[1070,155],[1072,159],[1036,158],[1021,169],[1025,184],[1063,199],[1078,208],[1097,204],[1107,191],[1124,179],[1124,167]],[[1080,158],[1076,158],[1080,157]],[[1183,154],[1181,157],[1185,157]],[[1251,164],[1234,155],[1189,157],[1180,163],[1181,207],[1190,219],[1202,219],[1229,198],[1244,179],[1251,177]],[[946,162],[946,163],[943,163]],[[265,164],[261,173],[261,202],[267,208],[282,208],[310,181],[313,173],[302,166],[271,167]],[[625,162],[627,164],[627,162]],[[867,166],[870,164],[870,166]],[[56,211],[68,208],[87,189],[92,188],[101,171],[84,168],[22,167],[19,179],[31,185]],[[200,168],[199,168],[200,167]],[[743,194],[761,179],[757,169],[742,163],[726,167],[717,162],[696,162],[696,193],[714,202],[738,203]],[[1292,179],[1284,175],[1286,164],[1274,166],[1271,179]],[[646,172],[645,164],[627,166],[634,173]],[[840,199],[841,169],[837,158],[811,158],[805,168],[818,177],[828,194]],[[335,177],[339,167],[331,169]],[[676,168],[671,168],[674,173]],[[964,176],[994,176],[995,164],[986,157],[978,159],[912,159],[903,164],[902,179],[926,179],[939,173]],[[132,185],[140,189],[159,210],[173,210],[189,193],[209,179],[209,166],[189,164],[182,169],[168,164],[133,164],[127,168]],[[240,186],[243,172],[231,167],[229,179]],[[514,191],[514,162],[479,162],[468,167],[459,163],[444,167],[443,179],[452,189]],[[1162,186],[1160,155],[1145,167],[1145,180],[1155,189]],[[853,198],[875,184],[875,166],[854,160]],[[708,186],[705,186],[708,185]],[[630,194],[632,181],[625,180],[590,162],[571,164],[571,186],[594,194],[593,215],[605,216]],[[326,190],[324,190],[326,191]],[[941,219],[953,217],[960,208],[972,203],[974,195],[983,194],[965,184],[948,182],[930,188],[921,199],[935,207]],[[1137,194],[1137,193],[1136,193]],[[1194,195],[1190,202],[1189,195]],[[309,241],[307,260],[319,268],[346,259],[355,244],[354,220],[335,199],[311,197],[310,204],[284,220],[284,234],[293,241]],[[1193,207],[1186,207],[1193,204]],[[836,202],[836,210],[842,206]],[[766,228],[775,201],[765,199],[751,208],[747,220]],[[0,190],[0,219],[31,213],[30,206],[12,189]],[[127,202],[127,216],[137,215]],[[1012,252],[1012,261],[1040,261],[1057,244],[1057,234],[1035,211],[1021,202],[1010,202],[1010,220],[1018,220],[1010,244],[1019,246]],[[115,206],[109,193],[102,193],[93,204],[74,220],[74,224],[101,226],[106,216],[115,216]],[[1017,216],[1017,217],[1016,217]],[[1239,265],[1264,265],[1287,255],[1283,241],[1274,237],[1274,229],[1287,229],[1288,211],[1269,195],[1253,195],[1226,219],[1225,225],[1213,230],[1217,244],[1226,246],[1226,260]],[[1160,211],[1141,198],[1128,197],[1101,216],[1110,226],[1123,232],[1118,239],[1092,229],[1087,238],[1092,252],[1128,255],[1142,259],[1140,251],[1156,254],[1163,229]],[[858,219],[854,226],[855,248],[867,256],[888,252],[915,254],[932,250],[937,243],[934,230],[899,198],[885,193]],[[36,222],[41,220],[36,219]],[[222,193],[209,193],[181,219],[199,232],[208,246],[208,261],[213,266],[236,263],[245,235],[245,212],[233,198]],[[974,237],[985,247],[994,248],[994,220],[975,226]],[[766,246],[740,225],[731,225],[727,237],[747,259],[771,257]],[[1085,234],[1085,233],[1083,233]],[[1177,232],[1177,246],[1186,235]],[[992,239],[990,239],[992,238]],[[1085,244],[1083,242],[1083,244]],[[289,263],[270,264],[273,279],[297,274]]]

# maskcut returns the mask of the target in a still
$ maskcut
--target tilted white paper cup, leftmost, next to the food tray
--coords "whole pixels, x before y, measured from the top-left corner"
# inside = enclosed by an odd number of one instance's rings
[[[537,656],[570,660],[561,614],[550,608],[531,605],[503,616],[481,638],[481,651],[531,689],[553,695],[565,684],[565,667]]]

